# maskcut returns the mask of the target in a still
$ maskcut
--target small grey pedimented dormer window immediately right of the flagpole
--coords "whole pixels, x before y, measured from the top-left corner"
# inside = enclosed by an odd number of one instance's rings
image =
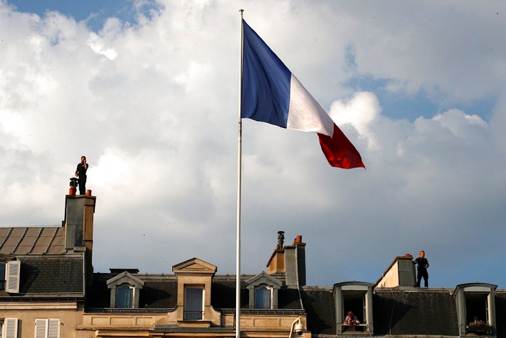
[[[249,290],[249,307],[251,309],[277,309],[278,290],[281,282],[271,275],[262,272],[246,281]]]

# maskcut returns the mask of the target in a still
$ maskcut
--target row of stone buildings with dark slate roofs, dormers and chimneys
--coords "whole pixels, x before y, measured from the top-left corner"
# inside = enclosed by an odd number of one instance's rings
[[[211,262],[94,273],[95,204],[67,195],[61,226],[0,227],[0,337],[235,336],[236,279]],[[306,285],[301,236],[284,245],[278,233],[266,258],[266,271],[240,276],[244,337],[506,337],[506,290],[414,288],[411,256],[395,257],[376,282],[327,287]],[[360,324],[344,323],[350,310]]]

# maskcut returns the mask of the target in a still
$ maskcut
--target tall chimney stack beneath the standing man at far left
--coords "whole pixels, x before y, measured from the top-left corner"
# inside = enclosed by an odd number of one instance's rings
[[[88,192],[90,192],[88,194]],[[93,214],[96,197],[91,191],[86,195],[66,195],[65,197],[65,250],[85,252],[86,285],[93,281]]]

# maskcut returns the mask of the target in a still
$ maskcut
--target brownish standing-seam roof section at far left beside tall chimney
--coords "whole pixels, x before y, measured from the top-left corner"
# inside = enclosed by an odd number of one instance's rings
[[[11,227],[0,228],[0,253],[41,255],[65,253],[65,228]]]

